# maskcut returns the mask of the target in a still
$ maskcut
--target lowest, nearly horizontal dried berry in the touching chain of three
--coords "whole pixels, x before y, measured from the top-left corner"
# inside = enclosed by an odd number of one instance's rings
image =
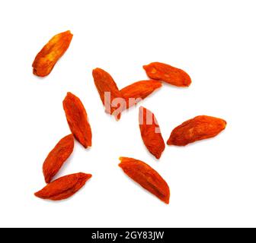
[[[35,196],[49,200],[63,200],[75,194],[85,185],[89,178],[91,178],[91,174],[82,172],[65,175],[46,185],[42,190],[37,191]]]

